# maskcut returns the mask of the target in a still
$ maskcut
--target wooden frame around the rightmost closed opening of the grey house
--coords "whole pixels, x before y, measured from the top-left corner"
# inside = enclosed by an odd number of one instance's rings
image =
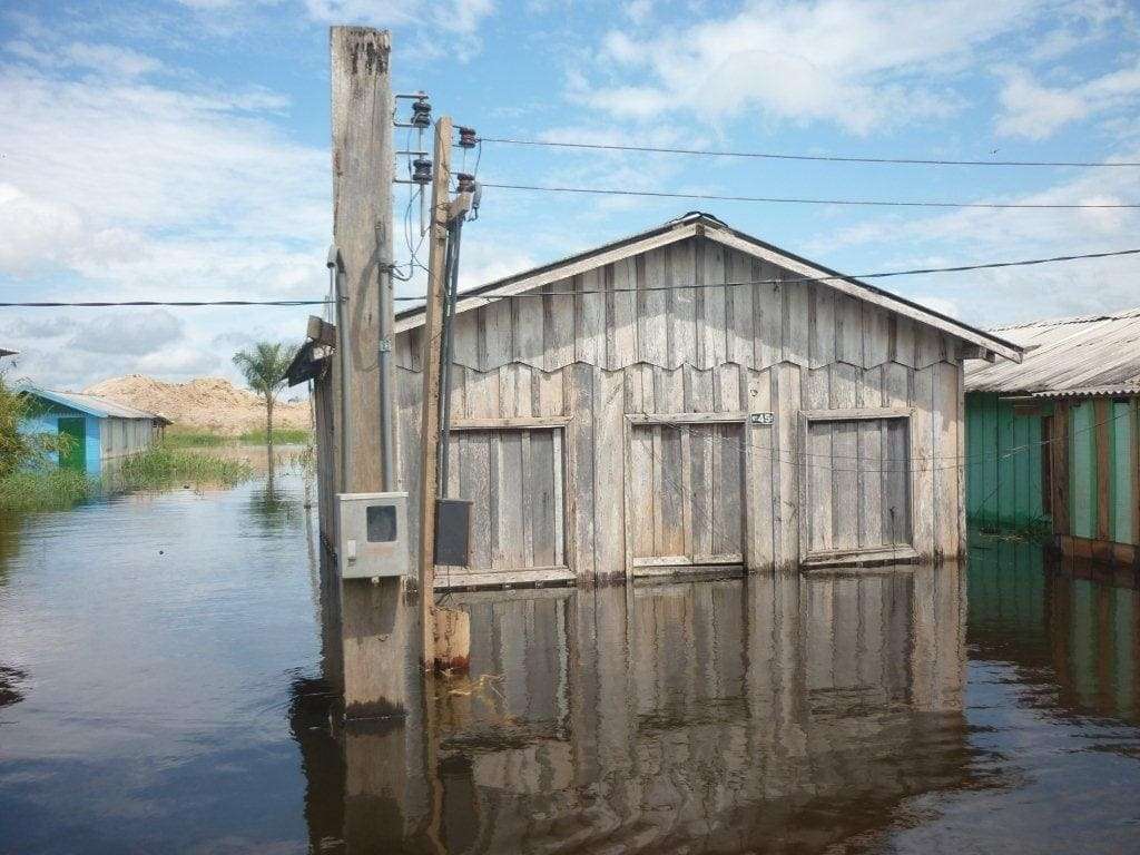
[[[914,407],[853,407],[850,409],[801,409],[799,412],[799,564],[801,568],[845,567],[861,564],[904,563],[918,559],[914,548],[914,537],[918,529],[915,512],[917,483],[914,467],[914,446],[918,427],[914,418]],[[830,552],[813,552],[809,537],[809,514],[805,513],[808,503],[808,454],[807,434],[812,422],[860,422],[880,421],[887,418],[906,420],[906,457],[910,479],[907,483],[907,504],[910,505],[910,543],[903,546],[888,546],[872,549],[834,549]]]

